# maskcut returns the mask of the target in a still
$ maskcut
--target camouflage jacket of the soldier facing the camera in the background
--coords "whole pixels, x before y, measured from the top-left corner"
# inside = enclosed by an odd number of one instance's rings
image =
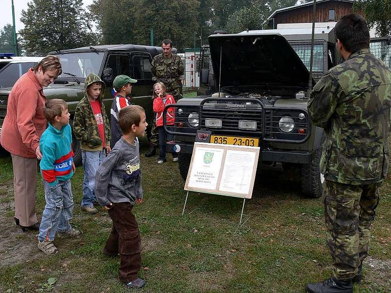
[[[171,59],[164,63],[163,54],[156,55],[152,61],[152,80],[162,82],[167,86],[167,92],[174,96],[175,101],[181,94],[181,84],[178,80],[184,79],[184,66],[180,57],[171,53]]]

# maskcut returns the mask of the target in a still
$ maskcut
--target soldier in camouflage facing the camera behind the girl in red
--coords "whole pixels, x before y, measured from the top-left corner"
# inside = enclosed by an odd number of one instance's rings
[[[172,53],[173,42],[171,40],[163,40],[163,54],[156,55],[152,61],[152,80],[161,82],[167,87],[167,93],[174,96],[177,102],[182,96],[182,80],[184,80],[184,66],[180,57]],[[151,122],[151,134],[147,134],[150,150],[145,154],[146,157],[152,157],[156,154],[156,146],[158,142],[158,134],[156,129],[156,121]]]

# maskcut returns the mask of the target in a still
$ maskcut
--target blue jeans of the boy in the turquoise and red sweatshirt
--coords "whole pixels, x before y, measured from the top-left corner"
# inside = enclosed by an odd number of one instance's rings
[[[70,180],[59,180],[55,186],[49,186],[43,180],[46,205],[43,210],[38,240],[53,241],[56,231],[66,232],[72,229],[69,220],[73,214],[73,195]]]

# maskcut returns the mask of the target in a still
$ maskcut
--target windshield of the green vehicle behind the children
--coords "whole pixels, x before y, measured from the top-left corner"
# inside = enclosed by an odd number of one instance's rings
[[[99,75],[105,57],[104,52],[78,52],[56,55],[61,62],[63,73],[59,77],[69,77],[70,73],[77,77],[87,77],[88,73]]]

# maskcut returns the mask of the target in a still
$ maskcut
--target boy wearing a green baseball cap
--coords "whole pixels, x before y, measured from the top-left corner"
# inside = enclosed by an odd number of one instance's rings
[[[113,81],[113,88],[115,90],[115,97],[111,103],[110,110],[110,128],[111,141],[110,146],[113,148],[115,143],[121,138],[122,131],[118,125],[118,113],[125,106],[130,105],[131,84],[137,83],[137,80],[130,78],[127,75],[118,75]]]

